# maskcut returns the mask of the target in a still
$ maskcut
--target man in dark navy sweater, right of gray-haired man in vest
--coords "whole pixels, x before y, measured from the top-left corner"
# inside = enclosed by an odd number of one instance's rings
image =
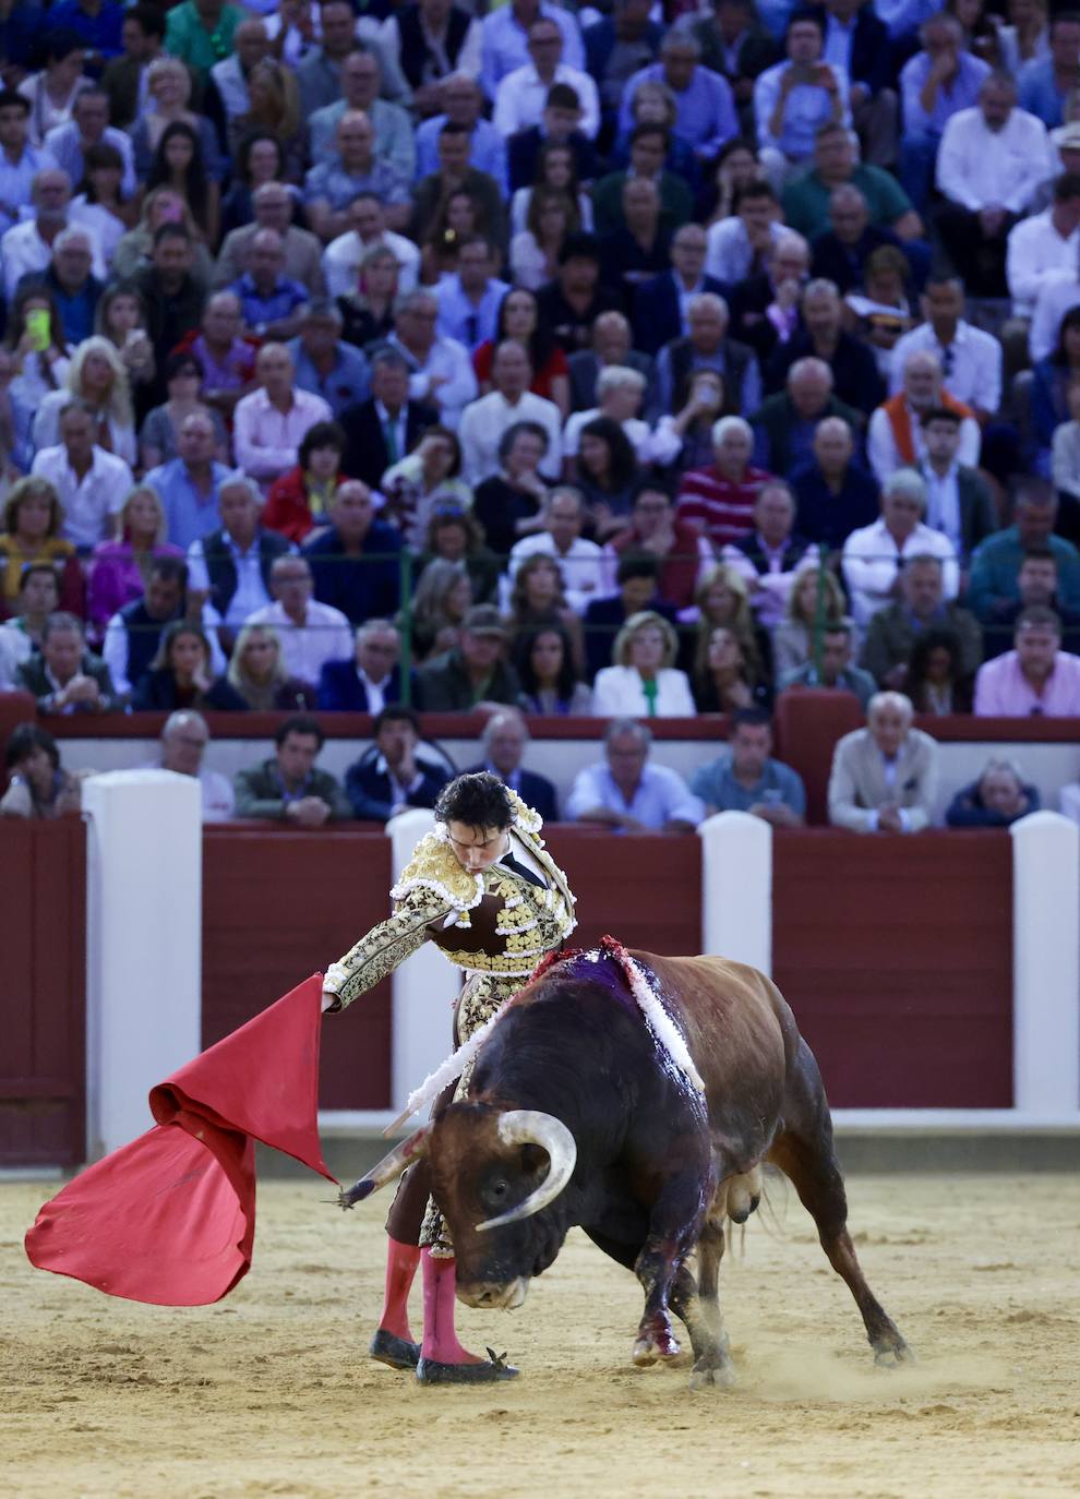
[[[400,552],[401,534],[376,517],[367,484],[345,480],[330,502],[330,525],[304,544],[315,597],[340,610],[354,625],[397,613]]]

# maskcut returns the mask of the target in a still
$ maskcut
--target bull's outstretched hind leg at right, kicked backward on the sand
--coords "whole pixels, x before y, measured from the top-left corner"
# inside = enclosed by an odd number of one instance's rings
[[[878,1364],[902,1363],[912,1352],[893,1319],[866,1283],[848,1234],[848,1198],[833,1148],[833,1121],[818,1064],[806,1042],[800,1042],[795,1078],[785,1099],[785,1129],[768,1160],[794,1183],[795,1192],[818,1225],[821,1247],[842,1276],[863,1315],[866,1336]]]

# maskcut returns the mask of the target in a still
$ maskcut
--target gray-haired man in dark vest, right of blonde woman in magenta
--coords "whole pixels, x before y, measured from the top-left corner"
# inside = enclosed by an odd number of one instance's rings
[[[226,474],[217,486],[222,525],[187,549],[187,594],[210,600],[231,633],[271,603],[270,576],[292,543],[259,525],[262,495],[247,474]]]

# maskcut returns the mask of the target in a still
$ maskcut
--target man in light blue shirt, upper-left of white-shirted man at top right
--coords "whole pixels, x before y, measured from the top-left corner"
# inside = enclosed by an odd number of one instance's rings
[[[933,183],[933,169],[945,126],[962,109],[972,108],[990,64],[965,51],[963,27],[941,10],[920,27],[923,51],[900,70],[903,138],[900,139],[900,186],[921,213]]]

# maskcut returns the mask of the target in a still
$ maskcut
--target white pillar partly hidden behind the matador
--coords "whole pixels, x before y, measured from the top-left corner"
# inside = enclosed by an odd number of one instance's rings
[[[394,883],[412,850],[434,827],[431,812],[410,808],[386,823]],[[458,970],[434,943],[401,964],[391,979],[394,1027],[391,1033],[391,1097],[395,1109],[454,1049],[451,1006],[461,983]]]

